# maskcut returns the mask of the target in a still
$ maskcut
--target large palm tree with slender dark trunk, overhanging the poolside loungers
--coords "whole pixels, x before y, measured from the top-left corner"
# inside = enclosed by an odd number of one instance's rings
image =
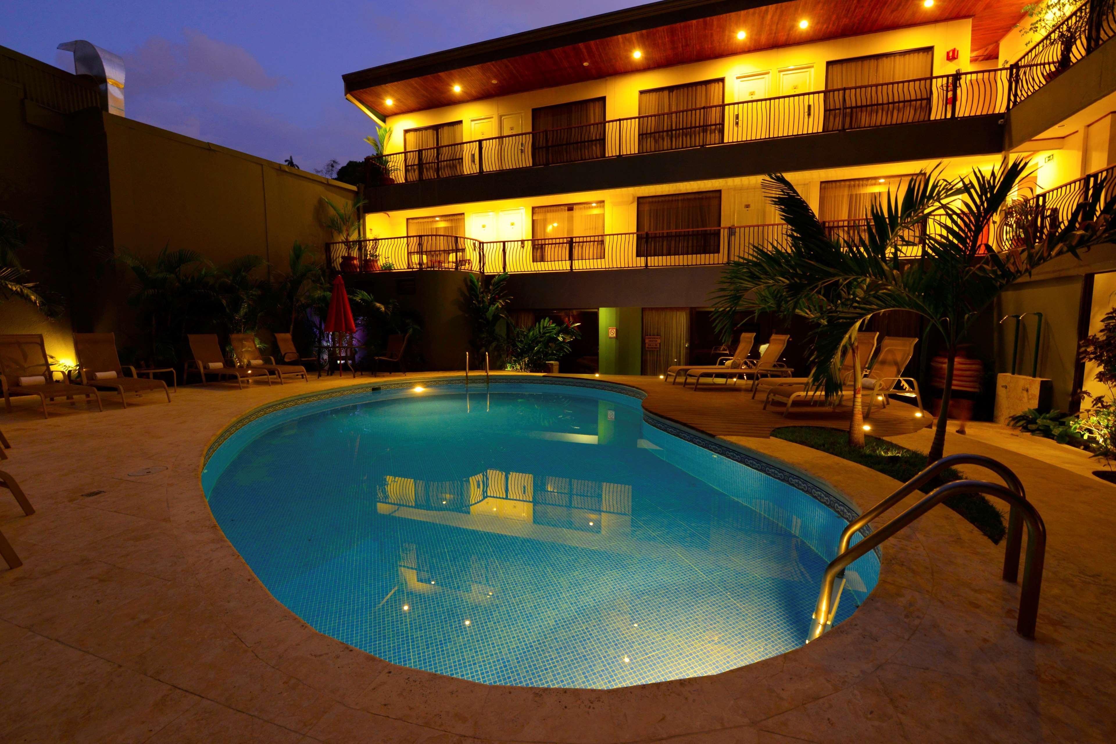
[[[941,334],[946,349],[942,408],[927,455],[933,463],[945,447],[958,345],[981,312],[1006,287],[1047,261],[1067,254],[1080,258],[1083,250],[1116,241],[1116,197],[1101,204],[1105,184],[1100,183],[1059,224],[1041,233],[1024,230],[1017,247],[1003,253],[989,250],[985,235],[993,219],[1028,167],[1026,160],[1006,158],[999,167],[974,168],[956,180],[944,178],[941,166],[935,167],[911,178],[902,195],[888,193],[873,204],[865,230],[848,239],[827,238],[793,186],[772,175],[764,186],[790,229],[790,248],[756,247],[754,258],[733,262],[722,278],[723,307],[719,307],[722,313],[731,310],[732,298],[749,291],[779,291],[790,300],[821,307],[810,356],[827,392],[836,387],[834,370],[864,321],[887,310],[923,316]],[[930,229],[921,257],[905,260],[901,247],[924,225]],[[776,257],[780,250],[783,255]],[[781,276],[761,277],[762,271]]]

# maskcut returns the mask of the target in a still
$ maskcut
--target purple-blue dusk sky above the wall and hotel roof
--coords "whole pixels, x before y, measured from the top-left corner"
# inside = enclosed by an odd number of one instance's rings
[[[341,74],[636,0],[0,2],[0,45],[73,71],[62,41],[125,60],[128,118],[306,170],[368,154]]]

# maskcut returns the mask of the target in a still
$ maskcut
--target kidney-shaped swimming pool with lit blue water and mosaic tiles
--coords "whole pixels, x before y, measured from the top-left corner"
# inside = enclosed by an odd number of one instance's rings
[[[233,547],[320,632],[412,668],[585,688],[804,642],[846,524],[831,495],[645,419],[619,386],[395,385],[272,404],[202,472]],[[837,621],[878,566],[854,563]]]

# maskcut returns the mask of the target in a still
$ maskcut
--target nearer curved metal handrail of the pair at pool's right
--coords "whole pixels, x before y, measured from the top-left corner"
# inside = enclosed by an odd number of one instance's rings
[[[1016,631],[1023,638],[1035,638],[1035,627],[1039,610],[1039,593],[1042,587],[1042,564],[1046,560],[1046,524],[1043,524],[1042,518],[1031,502],[1007,486],[985,481],[954,481],[939,486],[933,493],[926,495],[891,522],[869,533],[829,562],[821,579],[821,589],[818,592],[818,602],[814,610],[814,618],[810,622],[810,631],[807,635],[806,642],[817,639],[833,627],[834,613],[830,605],[836,606],[833,602],[833,595],[834,584],[839,573],[855,560],[868,553],[868,551],[893,537],[937,504],[950,496],[965,493],[995,496],[1001,501],[1006,501],[1011,506],[1012,512],[1017,512],[1022,521],[1027,523],[1027,558],[1023,563],[1023,589],[1019,600],[1019,619],[1016,622]]]

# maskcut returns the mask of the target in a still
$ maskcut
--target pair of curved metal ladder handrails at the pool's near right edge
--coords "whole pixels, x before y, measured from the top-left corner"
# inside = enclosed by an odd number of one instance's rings
[[[914,491],[926,485],[942,471],[954,465],[979,465],[992,471],[1007,486],[985,481],[954,481],[939,486],[933,493],[905,512],[889,521],[884,526],[864,537],[855,545],[849,547],[853,535],[888,509],[903,501]],[[1011,511],[1008,515],[1008,534],[1004,540],[1003,580],[1014,583],[1019,578],[1019,551],[1022,543],[1022,522],[1027,522],[1027,560],[1023,564],[1023,591],[1019,600],[1019,620],[1016,631],[1024,638],[1035,637],[1035,625],[1039,611],[1039,591],[1042,586],[1042,563],[1046,558],[1046,525],[1033,504],[1027,501],[1023,484],[1011,470],[1001,462],[982,455],[950,455],[942,457],[927,466],[913,479],[904,483],[892,495],[887,496],[857,519],[849,522],[840,533],[837,545],[837,558],[826,567],[821,579],[821,590],[818,592],[818,603],[814,609],[810,632],[806,642],[818,638],[833,627],[837,613],[837,603],[845,587],[845,569],[853,561],[865,555],[896,532],[911,524],[931,509],[950,496],[964,493],[995,496],[1008,502]],[[838,583],[839,580],[839,583]]]

